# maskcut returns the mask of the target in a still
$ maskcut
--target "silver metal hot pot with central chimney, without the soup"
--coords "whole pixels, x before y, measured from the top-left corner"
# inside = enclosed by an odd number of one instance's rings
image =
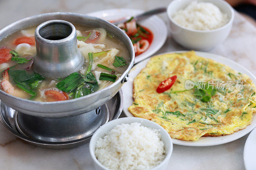
[[[76,45],[76,30],[72,24],[101,27],[114,35],[127,49],[128,68],[112,85],[72,100],[39,102],[18,98],[0,90],[1,122],[14,135],[32,144],[48,148],[68,148],[88,142],[96,129],[118,118],[123,108],[124,99],[120,88],[129,77],[135,54],[130,38],[110,22],[76,13],[40,14],[6,26],[0,31],[0,41],[20,29],[39,25],[35,32],[35,71],[46,76],[54,73],[53,77],[65,77],[77,71],[84,61]],[[48,36],[51,30],[67,38],[47,41],[44,36]],[[64,48],[68,50],[63,50]],[[56,50],[63,52],[61,57],[54,52],[46,52]]]

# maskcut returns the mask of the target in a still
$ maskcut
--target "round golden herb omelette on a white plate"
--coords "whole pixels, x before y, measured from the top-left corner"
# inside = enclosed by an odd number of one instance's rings
[[[158,85],[177,76],[172,87]],[[252,80],[194,51],[152,57],[133,81],[135,116],[161,125],[172,138],[198,140],[224,136],[251,124],[256,111]]]

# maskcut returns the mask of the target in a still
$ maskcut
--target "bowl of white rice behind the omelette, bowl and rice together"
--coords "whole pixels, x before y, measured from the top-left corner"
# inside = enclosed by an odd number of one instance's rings
[[[208,51],[231,31],[234,10],[224,0],[173,0],[167,8],[173,39],[185,48]]]

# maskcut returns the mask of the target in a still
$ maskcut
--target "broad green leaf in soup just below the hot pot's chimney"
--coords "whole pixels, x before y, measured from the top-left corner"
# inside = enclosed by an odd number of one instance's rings
[[[56,87],[63,92],[71,92],[76,89],[77,86],[84,83],[84,78],[78,73],[74,72],[70,74],[67,78],[60,81]]]

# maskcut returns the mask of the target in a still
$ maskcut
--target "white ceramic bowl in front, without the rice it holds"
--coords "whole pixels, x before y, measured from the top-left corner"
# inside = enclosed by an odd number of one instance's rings
[[[156,124],[155,122],[149,121],[147,119],[142,119],[138,117],[124,117],[120,119],[116,119],[113,121],[110,121],[104,125],[102,125],[96,132],[92,135],[91,141],[90,141],[90,154],[93,160],[93,165],[96,168],[96,170],[109,170],[105,166],[103,166],[95,157],[95,144],[98,141],[98,139],[101,137],[103,138],[106,135],[106,132],[110,131],[113,129],[116,125],[121,125],[122,123],[133,123],[133,122],[138,122],[141,123],[141,125],[149,128],[154,128],[154,129],[160,129],[159,133],[161,133],[161,141],[164,142],[164,150],[166,153],[166,156],[164,160],[156,167],[154,167],[152,170],[164,170],[166,169],[170,157],[172,155],[172,139],[170,135],[167,133],[164,128],[162,128],[160,125]],[[150,148],[149,148],[150,149]],[[111,158],[109,158],[111,159]]]

